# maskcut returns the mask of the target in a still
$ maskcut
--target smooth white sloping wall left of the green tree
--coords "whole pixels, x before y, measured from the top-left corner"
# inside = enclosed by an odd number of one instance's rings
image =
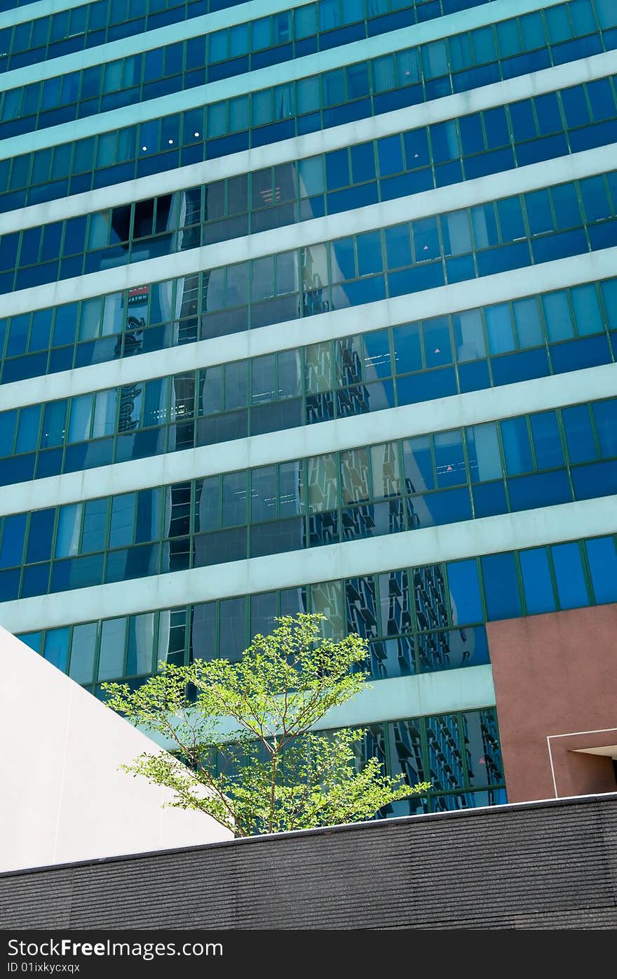
[[[5,629],[0,744],[0,872],[232,838],[120,771],[153,741]]]

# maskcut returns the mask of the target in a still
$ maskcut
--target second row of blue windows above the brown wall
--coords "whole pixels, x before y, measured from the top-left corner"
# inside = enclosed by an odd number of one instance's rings
[[[25,597],[596,498],[616,458],[611,398],[18,513],[0,594],[22,563]]]

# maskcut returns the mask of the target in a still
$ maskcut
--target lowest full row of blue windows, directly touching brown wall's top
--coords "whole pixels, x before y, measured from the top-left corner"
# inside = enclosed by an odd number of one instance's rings
[[[319,612],[333,638],[370,642],[374,678],[481,666],[484,624],[617,601],[614,536],[489,554],[419,568],[222,598],[98,622],[39,629],[20,638],[78,683],[150,676],[159,661],[236,660],[278,615]],[[67,623],[71,610],[66,609]]]

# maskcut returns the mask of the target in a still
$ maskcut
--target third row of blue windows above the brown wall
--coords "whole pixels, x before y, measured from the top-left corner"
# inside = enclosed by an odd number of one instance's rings
[[[12,409],[0,413],[0,479],[90,469],[611,362],[607,327],[617,328],[615,279]]]

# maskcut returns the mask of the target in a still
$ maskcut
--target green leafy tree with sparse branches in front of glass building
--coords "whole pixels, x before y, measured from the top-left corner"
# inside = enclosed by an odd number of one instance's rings
[[[111,709],[173,745],[174,755],[144,753],[124,769],[172,789],[168,805],[201,810],[237,836],[353,822],[424,793],[429,783],[391,778],[376,758],[360,766],[365,730],[311,729],[367,679],[368,642],[324,638],[323,620],[279,618],[238,663],[161,664],[134,691],[104,684]]]

